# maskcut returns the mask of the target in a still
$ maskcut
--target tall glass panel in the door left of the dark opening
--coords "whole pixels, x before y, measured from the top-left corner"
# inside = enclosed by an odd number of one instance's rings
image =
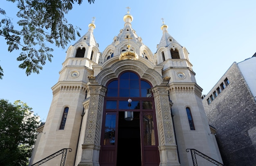
[[[115,145],[116,112],[106,112],[105,134],[103,145]]]

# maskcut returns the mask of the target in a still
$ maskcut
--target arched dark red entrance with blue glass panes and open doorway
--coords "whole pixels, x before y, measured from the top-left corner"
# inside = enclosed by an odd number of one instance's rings
[[[134,72],[123,72],[106,86],[100,165],[159,166],[152,85]],[[125,120],[125,112],[133,113],[132,121]]]

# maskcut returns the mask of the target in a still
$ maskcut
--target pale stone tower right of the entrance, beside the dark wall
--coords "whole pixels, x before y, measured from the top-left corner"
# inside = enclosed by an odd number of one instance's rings
[[[169,99],[173,103],[171,114],[180,164],[191,165],[191,156],[186,149],[196,149],[222,162],[215,136],[211,134],[204,112],[202,88],[196,83],[189,52],[168,34],[168,26],[164,22],[161,29],[163,35],[154,59],[156,65],[164,66],[162,75],[171,77],[168,91]],[[202,165],[210,164],[203,159],[200,162],[204,163]]]

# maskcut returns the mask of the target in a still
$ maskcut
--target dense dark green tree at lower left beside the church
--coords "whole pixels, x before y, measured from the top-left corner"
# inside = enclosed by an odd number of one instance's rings
[[[26,103],[0,99],[0,165],[25,166],[35,144],[39,117]]]

